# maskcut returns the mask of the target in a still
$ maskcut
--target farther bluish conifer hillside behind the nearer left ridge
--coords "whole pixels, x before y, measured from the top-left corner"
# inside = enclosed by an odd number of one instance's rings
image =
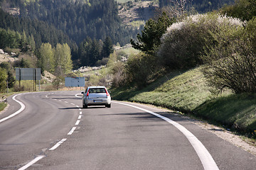
[[[114,43],[124,45],[132,35],[137,35],[137,30],[121,26],[114,0],[1,1],[4,10],[17,8],[16,15],[55,26],[77,44],[87,36],[97,40],[105,40],[109,36]]]

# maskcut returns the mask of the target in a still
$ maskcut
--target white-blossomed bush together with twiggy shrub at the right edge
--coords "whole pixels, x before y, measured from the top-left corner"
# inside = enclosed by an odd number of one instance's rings
[[[218,14],[189,16],[174,23],[161,38],[158,58],[169,69],[202,70],[215,92],[256,92],[256,21]]]

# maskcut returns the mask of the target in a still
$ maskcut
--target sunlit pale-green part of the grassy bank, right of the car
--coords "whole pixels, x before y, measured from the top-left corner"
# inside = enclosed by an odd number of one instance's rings
[[[191,112],[213,96],[206,87],[200,69],[188,72],[172,72],[141,91],[114,89],[113,98],[118,100],[150,103],[156,106]]]

